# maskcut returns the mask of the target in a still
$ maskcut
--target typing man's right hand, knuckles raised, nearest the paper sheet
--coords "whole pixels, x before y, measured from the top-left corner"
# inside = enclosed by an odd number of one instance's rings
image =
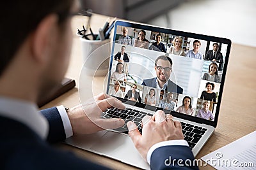
[[[166,117],[163,111],[157,111],[153,117],[145,116],[142,119],[142,134],[134,122],[127,123],[129,136],[143,159],[146,160],[148,150],[156,143],[184,139],[180,122],[172,118],[172,115]]]

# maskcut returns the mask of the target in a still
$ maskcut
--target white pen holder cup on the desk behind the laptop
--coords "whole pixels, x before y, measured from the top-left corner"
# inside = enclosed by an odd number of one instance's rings
[[[90,76],[106,76],[111,50],[110,39],[104,41],[79,39],[82,47],[84,73]]]

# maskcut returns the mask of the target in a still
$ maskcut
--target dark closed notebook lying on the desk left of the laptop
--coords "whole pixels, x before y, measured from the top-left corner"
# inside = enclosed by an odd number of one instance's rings
[[[45,104],[49,103],[53,99],[56,99],[57,97],[61,96],[61,94],[64,94],[70,89],[73,89],[76,86],[76,81],[72,80],[70,78],[63,78],[60,85],[58,85],[55,89],[52,90],[49,94],[42,97],[38,101],[38,107],[42,107]]]

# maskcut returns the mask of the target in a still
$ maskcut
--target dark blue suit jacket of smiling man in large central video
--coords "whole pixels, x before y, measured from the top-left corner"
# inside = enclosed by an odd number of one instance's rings
[[[143,80],[141,85],[156,88],[156,77]],[[178,93],[178,94],[183,94],[183,89],[181,87],[179,87],[179,85],[176,85],[175,83],[173,83],[173,81],[171,81],[171,80],[168,80],[167,91],[173,92],[173,93]]]

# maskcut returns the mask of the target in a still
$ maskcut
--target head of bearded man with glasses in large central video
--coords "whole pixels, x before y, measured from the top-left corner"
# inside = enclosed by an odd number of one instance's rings
[[[165,83],[172,73],[172,59],[164,55],[157,57],[155,61],[155,71],[157,80]]]

